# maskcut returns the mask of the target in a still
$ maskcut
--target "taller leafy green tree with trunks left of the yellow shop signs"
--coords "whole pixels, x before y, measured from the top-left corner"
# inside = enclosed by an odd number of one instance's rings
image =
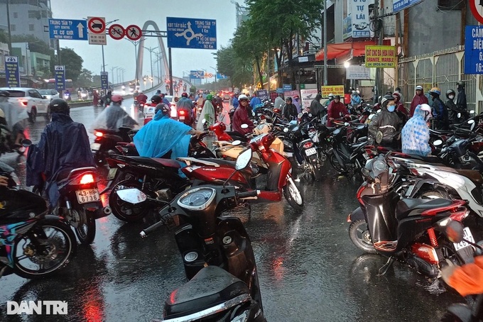
[[[310,38],[315,28],[320,27],[324,1],[320,0],[246,0],[249,8],[250,26],[259,28],[259,39],[264,39],[266,48],[276,52],[280,67],[285,54],[291,66],[292,82],[295,79],[292,66],[293,38]],[[260,28],[263,26],[263,28]],[[281,48],[278,52],[278,48]],[[281,87],[281,68],[278,68],[278,87]]]

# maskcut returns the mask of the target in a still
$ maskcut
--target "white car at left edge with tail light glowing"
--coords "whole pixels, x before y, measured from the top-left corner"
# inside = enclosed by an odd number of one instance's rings
[[[0,90],[10,93],[10,103],[27,110],[28,121],[31,123],[36,123],[39,114],[43,114],[45,120],[50,121],[50,110],[48,108],[50,99],[47,99],[47,96],[42,96],[37,89],[28,87],[1,87]]]

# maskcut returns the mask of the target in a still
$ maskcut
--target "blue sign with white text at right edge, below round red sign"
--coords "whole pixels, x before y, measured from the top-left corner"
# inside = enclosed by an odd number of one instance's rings
[[[483,26],[465,27],[465,74],[483,74]]]

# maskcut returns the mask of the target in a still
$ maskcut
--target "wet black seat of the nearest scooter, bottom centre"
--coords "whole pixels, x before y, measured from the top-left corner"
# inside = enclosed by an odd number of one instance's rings
[[[203,267],[170,294],[164,304],[164,319],[186,317],[243,294],[250,294],[250,290],[241,279],[217,266]]]

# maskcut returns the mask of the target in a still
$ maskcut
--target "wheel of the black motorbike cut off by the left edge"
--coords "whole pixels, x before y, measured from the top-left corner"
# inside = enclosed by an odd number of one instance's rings
[[[34,245],[34,238],[40,249]],[[76,250],[75,235],[67,224],[43,219],[16,239],[12,252],[13,272],[28,279],[50,276],[67,265]]]

